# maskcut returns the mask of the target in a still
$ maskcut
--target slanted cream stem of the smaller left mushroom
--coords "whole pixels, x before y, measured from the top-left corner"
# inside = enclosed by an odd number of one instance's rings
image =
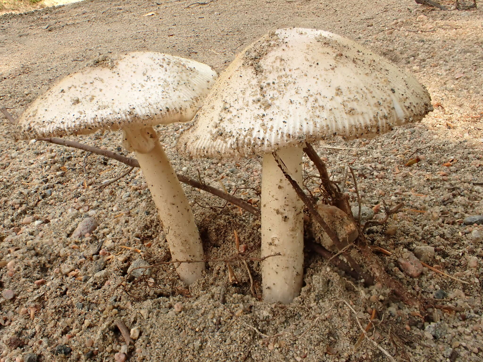
[[[125,129],[124,138],[136,153],[151,197],[163,223],[174,260],[203,260],[203,247],[193,212],[153,127]],[[191,284],[201,278],[204,263],[183,263],[176,271]]]

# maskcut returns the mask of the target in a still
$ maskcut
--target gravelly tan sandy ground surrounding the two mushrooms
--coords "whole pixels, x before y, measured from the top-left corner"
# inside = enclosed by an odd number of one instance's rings
[[[126,277],[137,259],[170,260],[142,172],[95,188],[125,168],[74,149],[15,142],[2,118],[0,361],[389,361],[374,343],[397,361],[482,361],[482,22],[480,10],[444,12],[409,0],[92,0],[0,16],[0,104],[14,117],[99,53],[166,52],[221,71],[244,45],[287,26],[365,44],[414,73],[442,106],[377,139],[315,145],[335,180],[347,164],[356,170],[364,206],[377,212],[377,205],[404,203],[367,237],[393,252],[380,256],[386,271],[414,296],[429,298],[426,308],[405,305],[380,283],[365,287],[309,251],[302,293],[288,306],[254,297],[243,264],[231,265],[238,284],[229,283],[227,265],[214,262],[189,289],[169,265],[153,267],[147,280]],[[221,179],[228,191],[259,188],[259,159],[180,156],[175,145],[184,127],[157,128],[178,172],[197,178],[199,169],[206,183],[220,187]],[[128,155],[119,133],[77,140]],[[342,186],[355,204],[353,183]],[[260,225],[251,214],[209,208],[223,203],[185,191],[208,257],[233,254],[234,230],[257,248]],[[251,190],[241,197],[258,198]],[[87,217],[99,227],[72,237]],[[100,241],[101,255],[93,255]],[[402,272],[398,258],[427,246],[435,248],[420,256],[427,264],[467,284],[428,268],[416,278]],[[260,265],[249,268],[256,287]],[[365,328],[373,311],[370,340],[357,343],[358,321]]]

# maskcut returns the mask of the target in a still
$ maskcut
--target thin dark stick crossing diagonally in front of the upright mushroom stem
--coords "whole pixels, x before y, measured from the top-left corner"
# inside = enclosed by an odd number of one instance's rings
[[[337,235],[332,230],[330,230],[327,223],[324,221],[322,216],[320,216],[318,211],[315,209],[315,205],[313,204],[313,201],[307,195],[305,195],[302,188],[298,185],[297,181],[292,179],[292,177],[288,173],[288,170],[284,164],[284,161],[282,161],[282,159],[276,152],[273,152],[272,154],[273,154],[273,157],[275,158],[275,161],[278,164],[278,167],[280,167],[280,169],[284,173],[285,178],[288,180],[288,182],[290,182],[295,192],[297,193],[298,197],[300,197],[300,199],[303,201],[303,203],[305,204],[309,212],[312,214],[313,218],[317,221],[317,223],[320,224],[322,229],[326,232],[328,237],[330,237],[330,239],[337,247],[337,249],[339,250],[344,249],[348,245],[347,242],[341,242],[341,240],[339,240],[339,237],[337,237]],[[364,278],[364,279],[368,278],[367,281],[369,282],[369,284],[373,283],[373,279],[369,275],[364,273],[360,265],[357,264],[357,262],[352,258],[352,256],[348,252],[344,252],[342,253],[342,255],[346,258],[347,262],[352,266],[355,272],[359,275],[359,278]],[[365,275],[365,277],[363,277],[363,275]]]

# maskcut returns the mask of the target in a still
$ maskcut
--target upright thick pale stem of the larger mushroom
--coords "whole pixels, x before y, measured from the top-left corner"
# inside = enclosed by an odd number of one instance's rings
[[[277,151],[292,178],[302,182],[302,149]],[[263,155],[262,262],[263,299],[288,304],[298,296],[303,277],[303,202],[270,153]]]

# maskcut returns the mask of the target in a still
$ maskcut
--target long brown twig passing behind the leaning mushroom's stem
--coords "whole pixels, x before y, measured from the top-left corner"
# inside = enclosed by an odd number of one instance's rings
[[[82,143],[79,143],[79,142],[70,141],[70,140],[67,140],[67,139],[59,139],[59,138],[43,138],[43,139],[37,139],[37,140],[55,143],[55,144],[59,144],[59,145],[62,145],[62,146],[67,146],[67,147],[73,147],[73,148],[77,148],[79,150],[83,150],[83,151],[87,151],[87,152],[91,152],[91,153],[96,153],[96,154],[99,154],[101,156],[113,158],[114,160],[122,162],[123,164],[126,164],[130,167],[139,167],[139,162],[135,158],[126,157],[126,156],[120,155],[118,153],[114,153],[112,151],[109,151],[109,150],[101,150],[99,148],[88,146],[88,145],[85,145],[85,144],[82,144]],[[260,217],[260,209],[253,207],[248,202],[243,201],[242,199],[240,199],[238,197],[235,197],[235,196],[230,195],[230,194],[226,194],[222,190],[219,190],[215,187],[212,187],[212,186],[206,185],[204,183],[198,182],[198,181],[191,179],[189,177],[186,177],[184,175],[176,174],[176,177],[178,178],[178,180],[180,182],[183,182],[187,185],[190,185],[191,187],[195,187],[197,189],[206,191],[206,192],[213,194],[215,196],[218,196],[218,197],[220,197],[220,198],[222,198],[222,199],[224,199],[224,200],[226,200],[226,201],[228,201],[228,202],[230,202],[234,205],[241,207],[241,209],[244,209],[245,211],[248,211],[251,214],[254,214],[256,217]]]

